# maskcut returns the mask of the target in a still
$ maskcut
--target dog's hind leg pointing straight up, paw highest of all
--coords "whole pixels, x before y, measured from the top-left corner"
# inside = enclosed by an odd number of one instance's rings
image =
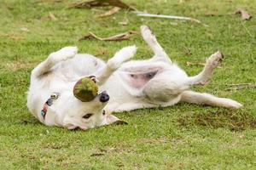
[[[169,58],[165,50],[157,42],[154,34],[152,33],[152,31],[150,31],[148,26],[141,26],[141,33],[144,41],[148,43],[148,46],[152,48],[154,52],[153,59],[163,59],[166,62],[172,64],[172,60]]]

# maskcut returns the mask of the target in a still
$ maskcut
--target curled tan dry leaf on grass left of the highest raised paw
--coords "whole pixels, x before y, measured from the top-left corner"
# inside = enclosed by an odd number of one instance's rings
[[[139,35],[137,31],[127,31],[125,33],[120,33],[112,37],[97,37],[94,33],[90,32],[89,35],[80,38],[79,41],[92,40],[92,39],[99,40],[99,41],[123,41],[123,40],[128,40],[132,34]]]

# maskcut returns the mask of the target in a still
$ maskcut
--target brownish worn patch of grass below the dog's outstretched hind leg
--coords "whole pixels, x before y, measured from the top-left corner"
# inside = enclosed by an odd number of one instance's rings
[[[186,115],[178,119],[182,127],[200,125],[205,127],[227,127],[231,131],[241,131],[256,127],[256,117],[249,113],[232,111],[210,111],[204,114]]]

